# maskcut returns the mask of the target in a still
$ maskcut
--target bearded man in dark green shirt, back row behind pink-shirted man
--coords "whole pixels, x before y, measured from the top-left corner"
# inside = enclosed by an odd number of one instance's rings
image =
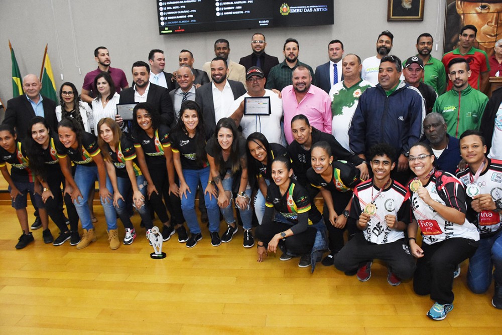
[[[314,77],[314,70],[298,60],[299,53],[300,45],[298,41],[293,38],[287,39],[283,46],[284,61],[270,70],[265,88],[282,91],[283,88],[292,84],[293,70],[298,66],[306,67],[310,71],[310,76]],[[315,84],[315,81],[312,81],[312,84]]]

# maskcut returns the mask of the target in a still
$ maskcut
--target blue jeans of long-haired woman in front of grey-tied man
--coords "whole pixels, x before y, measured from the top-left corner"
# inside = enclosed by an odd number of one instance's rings
[[[187,191],[187,197],[181,195],[181,210],[190,232],[200,234],[199,222],[195,213],[195,194],[197,193],[199,181],[202,185],[201,191],[204,193],[209,180],[209,166],[200,170],[183,170],[183,178],[185,178],[185,182],[192,193]],[[204,194],[204,200],[209,219],[209,231],[211,233],[217,232],[219,230],[219,208],[216,197],[211,196],[211,199],[209,199],[209,194]]]

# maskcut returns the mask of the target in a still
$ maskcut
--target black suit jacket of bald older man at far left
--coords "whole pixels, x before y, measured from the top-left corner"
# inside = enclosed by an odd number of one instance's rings
[[[42,106],[44,106],[44,117],[49,123],[52,131],[58,130],[58,119],[56,118],[56,103],[42,96]],[[16,128],[18,139],[28,136],[28,123],[34,118],[35,111],[28,101],[26,94],[20,95],[7,101],[7,109],[3,124],[10,124]]]

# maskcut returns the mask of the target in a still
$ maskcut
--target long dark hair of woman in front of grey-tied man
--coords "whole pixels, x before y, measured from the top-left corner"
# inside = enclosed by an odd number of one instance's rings
[[[197,113],[197,118],[199,122],[195,127],[195,162],[199,168],[204,166],[204,163],[207,161],[206,156],[206,136],[205,136],[205,128],[204,128],[204,119],[202,117],[202,112],[200,110],[200,106],[195,101],[186,100],[181,104],[180,115],[178,117],[178,123],[174,126],[172,133],[185,133],[188,135],[188,131],[185,127],[185,123],[183,122],[183,113],[186,110],[195,110]]]

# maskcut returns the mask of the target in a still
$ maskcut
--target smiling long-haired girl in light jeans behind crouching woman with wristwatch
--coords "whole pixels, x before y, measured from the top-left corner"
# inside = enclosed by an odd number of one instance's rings
[[[253,191],[257,190],[254,200],[255,213],[258,223],[262,224],[267,188],[274,183],[270,175],[272,160],[288,155],[288,151],[279,143],[269,143],[261,132],[254,132],[247,136],[246,154],[249,186]]]

